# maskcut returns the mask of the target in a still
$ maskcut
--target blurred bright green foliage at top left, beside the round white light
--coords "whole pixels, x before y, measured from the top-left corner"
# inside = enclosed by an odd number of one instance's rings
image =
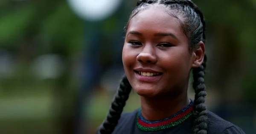
[[[48,6],[53,10],[45,8],[45,11],[40,11],[40,4],[20,5],[0,16],[0,46],[19,46],[20,42],[36,36],[31,35],[31,31],[38,31],[35,34],[51,42],[47,50],[61,47],[68,53],[77,53],[83,43],[83,20],[76,17],[67,2]],[[47,10],[52,11],[48,13]]]

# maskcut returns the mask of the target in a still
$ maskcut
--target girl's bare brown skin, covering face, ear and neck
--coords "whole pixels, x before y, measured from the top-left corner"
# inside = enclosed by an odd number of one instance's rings
[[[189,72],[204,59],[204,43],[189,51],[182,18],[170,16],[168,10],[151,5],[131,18],[122,52],[125,74],[141,96],[142,115],[151,121],[170,117],[189,105]]]

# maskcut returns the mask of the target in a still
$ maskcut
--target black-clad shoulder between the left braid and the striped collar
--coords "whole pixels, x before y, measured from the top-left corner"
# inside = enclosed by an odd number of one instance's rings
[[[136,109],[133,112],[122,113],[113,134],[120,134],[120,132],[122,132],[122,134],[129,134],[129,131],[131,131],[134,127],[134,122],[136,122],[138,111],[139,109]]]

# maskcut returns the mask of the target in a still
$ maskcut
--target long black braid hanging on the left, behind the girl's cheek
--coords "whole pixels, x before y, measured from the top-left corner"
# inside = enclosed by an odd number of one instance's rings
[[[118,120],[122,114],[126,100],[128,100],[131,92],[131,85],[126,77],[123,76],[122,81],[117,89],[114,99],[111,103],[107,118],[98,128],[97,134],[111,134],[116,127]]]

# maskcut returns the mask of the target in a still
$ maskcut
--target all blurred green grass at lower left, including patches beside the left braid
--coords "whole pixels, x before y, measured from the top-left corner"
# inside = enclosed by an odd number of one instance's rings
[[[36,90],[23,88],[0,92],[0,134],[58,134],[52,89],[46,85],[30,87]],[[113,92],[100,90],[91,96],[87,110],[92,132],[108,114],[113,95]],[[139,107],[139,96],[131,92],[124,112]]]

